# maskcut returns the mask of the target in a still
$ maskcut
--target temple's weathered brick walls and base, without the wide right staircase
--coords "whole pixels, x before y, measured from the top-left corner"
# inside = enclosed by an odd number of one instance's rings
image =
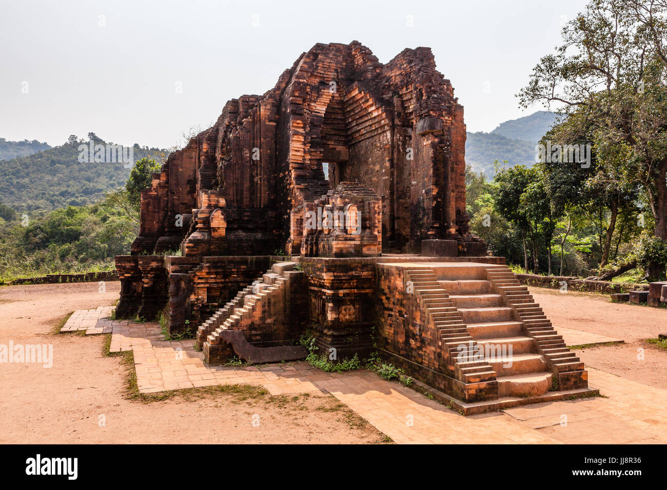
[[[165,311],[170,330],[195,327],[211,362],[267,359],[254,349],[291,343],[308,325],[320,353],[366,357],[382,324],[382,348],[429,383],[466,400],[492,396],[494,381],[456,373],[432,323],[378,265],[383,249],[418,252],[424,239],[450,241],[442,260],[486,255],[469,233],[465,141],[463,107],[429,48],[383,65],[357,41],[317,44],[264,95],[227,102],[154,175],[132,255],[117,257],[119,310]],[[333,217],[334,227],[309,227],[320,208],[358,225],[337,228]],[[172,250],[181,256],[147,255]],[[276,250],[300,255],[284,264],[303,271],[267,277],[265,294],[245,290]]]

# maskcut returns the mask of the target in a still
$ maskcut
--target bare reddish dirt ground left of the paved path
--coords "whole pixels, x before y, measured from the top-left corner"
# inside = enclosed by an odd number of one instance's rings
[[[145,403],[124,395],[126,367],[103,335],[53,330],[75,309],[113,305],[119,283],[0,287],[0,344],[53,344],[53,367],[0,363],[0,443],[376,443],[384,439],[325,397],[257,389]],[[101,421],[104,425],[101,426]],[[253,426],[255,421],[255,426]],[[259,421],[259,425],[257,422]]]

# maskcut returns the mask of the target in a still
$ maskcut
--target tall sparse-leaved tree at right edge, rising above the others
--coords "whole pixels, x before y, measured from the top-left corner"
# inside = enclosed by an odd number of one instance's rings
[[[667,240],[666,13],[665,1],[590,1],[519,93],[523,107],[553,104],[590,121],[599,165],[615,166],[630,187],[642,185],[660,243]],[[664,267],[650,263],[650,277],[664,276]]]

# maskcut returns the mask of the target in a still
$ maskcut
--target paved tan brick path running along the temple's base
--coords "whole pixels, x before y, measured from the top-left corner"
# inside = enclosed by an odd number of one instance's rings
[[[99,308],[75,313],[71,326],[86,326],[87,333],[110,329],[111,351],[132,349],[142,393],[237,383],[261,385],[271,395],[331,393],[396,443],[667,443],[667,390],[590,367],[589,385],[607,398],[464,417],[370,371],[323,373],[303,361],[207,367],[193,340],[165,341],[157,323],[111,321]],[[577,332],[568,343],[592,343],[591,334]]]

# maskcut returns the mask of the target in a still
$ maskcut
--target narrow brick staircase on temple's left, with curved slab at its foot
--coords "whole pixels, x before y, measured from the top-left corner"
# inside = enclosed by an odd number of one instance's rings
[[[247,337],[252,337],[254,333],[253,321],[256,323],[270,318],[271,315],[267,312],[271,301],[279,302],[279,295],[283,293],[281,290],[287,281],[285,273],[295,273],[295,265],[295,262],[273,264],[262,277],[241,289],[231,301],[199,325],[197,345],[201,345],[207,363],[223,363],[231,355],[231,351],[250,363],[291,361],[306,357],[305,347],[253,347],[247,340]],[[243,335],[244,333],[246,335]]]

